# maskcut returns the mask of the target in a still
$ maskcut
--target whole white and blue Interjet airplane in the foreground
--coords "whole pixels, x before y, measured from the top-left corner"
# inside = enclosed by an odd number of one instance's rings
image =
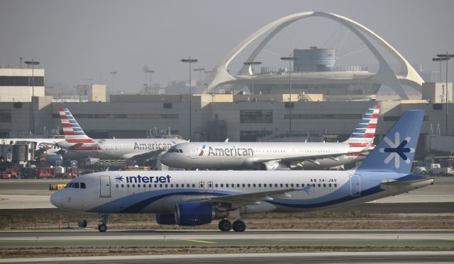
[[[349,171],[103,171],[74,178],[50,202],[101,214],[101,232],[109,213],[155,213],[158,224],[180,226],[221,219],[221,231],[245,231],[243,214],[357,205],[433,184],[433,178],[410,173],[423,115],[407,110]],[[87,221],[80,219],[79,226]]]

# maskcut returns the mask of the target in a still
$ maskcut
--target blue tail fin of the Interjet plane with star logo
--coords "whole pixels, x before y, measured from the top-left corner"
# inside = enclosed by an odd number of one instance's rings
[[[359,170],[409,173],[423,123],[424,110],[407,110],[362,161]]]

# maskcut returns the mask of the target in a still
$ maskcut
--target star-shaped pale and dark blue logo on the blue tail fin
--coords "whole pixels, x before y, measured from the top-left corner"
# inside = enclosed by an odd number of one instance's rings
[[[404,141],[400,142],[400,134],[396,132],[394,134],[394,142],[391,141],[388,137],[384,137],[384,142],[388,144],[389,147],[387,148],[380,148],[380,152],[382,153],[389,153],[386,159],[384,159],[384,163],[389,163],[392,159],[394,159],[394,166],[396,168],[400,167],[400,159],[402,158],[405,163],[410,163],[410,159],[406,156],[406,153],[413,153],[414,148],[405,147],[406,144],[410,142],[411,138],[406,137]]]

